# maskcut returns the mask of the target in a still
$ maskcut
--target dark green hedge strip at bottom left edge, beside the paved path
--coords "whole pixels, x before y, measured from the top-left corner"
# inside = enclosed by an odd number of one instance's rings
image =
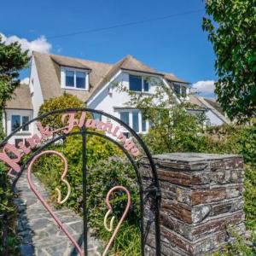
[[[6,167],[0,162],[0,255],[19,255],[17,209],[13,197]]]

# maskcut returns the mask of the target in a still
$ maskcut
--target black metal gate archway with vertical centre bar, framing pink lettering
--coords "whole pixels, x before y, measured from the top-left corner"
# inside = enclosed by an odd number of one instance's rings
[[[87,209],[86,209],[86,198],[87,198],[87,154],[86,154],[86,143],[87,143],[87,136],[96,136],[96,137],[102,137],[109,142],[116,145],[127,157],[127,159],[131,162],[131,165],[133,166],[134,171],[137,175],[137,184],[140,190],[140,207],[141,207],[141,219],[140,219],[140,230],[141,230],[141,247],[142,247],[142,255],[144,255],[144,247],[145,247],[145,241],[147,240],[148,236],[148,229],[150,228],[150,224],[154,223],[154,234],[155,234],[155,252],[156,255],[160,255],[160,187],[158,182],[158,177],[156,173],[156,168],[154,166],[154,160],[152,159],[152,156],[148,150],[148,147],[143,143],[143,139],[137,135],[136,131],[133,131],[129,125],[126,125],[122,120],[114,117],[111,114],[104,113],[102,111],[90,109],[90,108],[68,108],[68,109],[61,109],[61,110],[55,110],[50,113],[45,113],[41,116],[38,116],[35,119],[32,119],[28,121],[26,124],[21,125],[19,128],[17,128],[15,131],[13,131],[8,137],[6,137],[3,142],[0,143],[0,148],[3,148],[7,145],[9,139],[11,137],[14,137],[17,132],[19,132],[22,128],[24,128],[26,125],[30,125],[34,122],[43,121],[46,118],[49,118],[51,116],[55,116],[56,114],[78,114],[78,113],[85,113],[87,116],[88,113],[93,114],[101,114],[102,116],[107,117],[110,120],[113,120],[118,125],[121,125],[123,128],[125,128],[126,131],[129,131],[131,133],[132,141],[137,145],[137,147],[142,150],[142,156],[146,157],[149,164],[150,164],[150,184],[145,187],[143,185],[143,175],[139,170],[139,160],[131,154],[131,151],[129,151],[127,148],[124,147],[124,144],[120,143],[119,140],[116,137],[108,136],[108,132],[102,133],[99,132],[96,128],[94,129],[88,129],[85,125],[85,120],[82,125],[79,126],[79,131],[70,131],[70,132],[58,132],[56,134],[51,134],[51,136],[47,137],[47,139],[44,140],[44,143],[38,143],[36,147],[33,148],[32,154],[29,156],[29,159],[26,160],[26,162],[20,167],[20,172],[17,172],[15,175],[15,178],[12,180],[12,188],[15,190],[15,184],[18,182],[21,174],[26,170],[26,168],[30,165],[30,163],[39,155],[44,152],[44,149],[47,148],[49,145],[56,143],[58,141],[61,141],[65,139],[66,137],[71,137],[75,135],[81,136],[81,143],[83,146],[83,161],[82,161],[82,170],[83,170],[83,196],[84,196],[84,255],[87,255]],[[93,120],[93,119],[92,119]],[[74,122],[75,126],[78,126],[78,122]],[[66,126],[65,126],[66,127]],[[65,128],[63,127],[63,129]],[[63,130],[65,131],[65,129]],[[125,139],[125,137],[123,137]],[[6,150],[8,151],[8,150]],[[0,159],[1,160],[1,159]],[[147,198],[150,198],[150,208],[154,212],[154,220],[147,219],[145,216],[145,201]],[[144,224],[147,224],[146,227]]]

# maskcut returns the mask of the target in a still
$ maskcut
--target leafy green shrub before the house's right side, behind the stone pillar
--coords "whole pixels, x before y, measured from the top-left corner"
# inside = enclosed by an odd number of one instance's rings
[[[117,88],[129,95],[127,107],[137,108],[148,119],[150,129],[143,137],[154,154],[164,152],[200,151],[202,140],[200,120],[186,110],[184,103],[177,104],[170,87],[154,81],[154,94],[144,94],[128,90],[122,84]]]

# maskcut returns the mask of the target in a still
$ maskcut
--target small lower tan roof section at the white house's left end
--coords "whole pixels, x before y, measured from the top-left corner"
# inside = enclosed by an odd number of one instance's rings
[[[15,89],[12,98],[6,103],[5,108],[33,109],[29,86],[27,84],[20,84]]]

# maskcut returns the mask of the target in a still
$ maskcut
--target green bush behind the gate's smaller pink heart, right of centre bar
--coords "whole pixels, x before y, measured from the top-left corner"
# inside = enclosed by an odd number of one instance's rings
[[[103,220],[108,208],[105,197],[108,190],[116,185],[123,185],[131,192],[131,208],[124,224],[121,225],[118,236],[113,243],[113,252],[117,255],[141,255],[140,254],[140,194],[137,185],[136,172],[127,162],[121,158],[110,158],[97,162],[89,172],[88,177],[88,207],[90,226],[103,241],[109,241],[112,232],[103,227]],[[114,227],[125,210],[126,195],[116,193],[111,205],[115,216]],[[109,221],[109,219],[108,219]]]

